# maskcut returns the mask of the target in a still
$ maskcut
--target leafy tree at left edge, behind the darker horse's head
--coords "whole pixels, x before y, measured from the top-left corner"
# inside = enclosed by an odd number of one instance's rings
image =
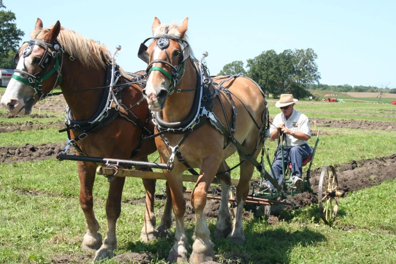
[[[3,0],[0,0],[0,9],[5,9]],[[2,64],[0,68],[10,65],[12,59],[10,58],[10,51],[16,52],[19,41],[24,35],[23,31],[17,28],[15,21],[15,14],[11,11],[0,10],[0,61]],[[3,64],[5,63],[5,64]],[[14,67],[11,68],[15,68]]]

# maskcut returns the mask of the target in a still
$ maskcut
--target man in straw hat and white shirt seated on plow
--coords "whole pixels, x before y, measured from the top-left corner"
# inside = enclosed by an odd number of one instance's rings
[[[271,140],[277,140],[281,133],[285,134],[284,145],[284,160],[285,169],[287,168],[289,162],[291,162],[292,173],[291,177],[293,179],[294,187],[296,191],[302,189],[303,182],[302,177],[302,161],[306,159],[311,152],[310,146],[308,146],[308,140],[311,138],[310,122],[306,115],[294,110],[294,103],[297,99],[293,98],[293,95],[282,94],[275,106],[281,109],[270,127]],[[281,143],[282,144],[282,143]],[[273,162],[273,169],[275,173],[271,177],[278,180],[279,183],[282,182],[282,153],[279,146],[277,150],[277,155]],[[272,185],[269,181],[265,183],[267,188],[271,188]]]

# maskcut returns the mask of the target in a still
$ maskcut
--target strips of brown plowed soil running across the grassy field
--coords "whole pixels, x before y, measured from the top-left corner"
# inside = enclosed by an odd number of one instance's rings
[[[355,95],[354,95],[355,96]],[[368,95],[365,95],[367,97]],[[356,97],[356,96],[355,96]],[[395,97],[396,98],[396,97]],[[65,108],[65,102],[63,98],[53,98],[51,102],[47,102],[44,105],[40,105],[41,110],[62,112]],[[301,102],[302,104],[317,104],[316,102]],[[37,107],[37,106],[36,106]],[[396,111],[396,110],[395,110]],[[310,111],[307,111],[310,112]],[[314,112],[314,111],[311,111]],[[315,111],[316,112],[316,111]],[[319,111],[318,111],[319,112]],[[386,112],[383,112],[386,113]],[[349,113],[351,114],[351,113]],[[353,113],[356,115],[369,115],[366,113]],[[391,113],[389,113],[391,114]],[[371,115],[370,116],[376,116]],[[385,115],[378,115],[385,116]],[[20,116],[0,114],[0,117],[9,118],[12,121],[18,121]],[[35,120],[40,120],[41,118],[56,117],[54,115],[31,115],[32,118],[37,118]],[[394,115],[389,115],[389,117],[394,117]],[[48,128],[62,128],[64,126],[63,121],[53,121],[48,123],[38,123],[37,121],[27,121],[27,122],[0,122],[0,133],[8,133],[12,131],[24,131],[33,129],[48,129]],[[316,135],[316,130],[314,130],[314,124],[320,127],[337,127],[337,128],[354,128],[354,129],[378,129],[378,130],[396,130],[396,123],[392,122],[380,122],[380,121],[360,121],[354,119],[323,119],[323,118],[311,118],[311,129],[312,135]],[[330,131],[322,131],[322,135],[329,135]],[[25,144],[22,147],[10,147],[4,146],[0,147],[0,162],[16,163],[25,161],[36,161],[45,160],[53,158],[56,154],[63,149],[65,143],[50,143],[45,145],[33,145]],[[347,164],[339,165],[336,167],[337,177],[339,187],[345,192],[344,196],[347,196],[349,192],[357,191],[363,188],[371,187],[374,185],[379,185],[386,180],[396,179],[396,154],[388,157],[364,160],[364,161],[351,161]],[[317,168],[311,173],[311,185],[314,191],[318,190],[319,178],[322,168]],[[216,196],[221,196],[221,189],[215,187]],[[41,195],[34,192],[23,193],[24,195]],[[210,196],[211,194],[209,194]],[[165,203],[166,196],[164,194],[157,194],[155,199],[157,203]],[[297,204],[298,207],[304,207],[311,205],[313,203],[318,203],[317,196],[310,193],[298,194],[291,197],[292,200]],[[195,220],[195,212],[190,203],[190,194],[185,194],[187,210],[185,214],[186,221]],[[145,202],[145,198],[141,197],[139,199],[123,200],[124,203],[129,204],[142,204]],[[205,217],[215,219],[217,218],[217,211],[220,205],[220,201],[208,199],[207,204],[204,209]],[[287,210],[292,210],[292,208],[287,208]],[[158,219],[161,215],[157,216]],[[251,219],[253,214],[249,211],[244,212],[244,218]],[[271,216],[268,222],[270,224],[276,224],[283,218],[283,214],[279,217]],[[62,254],[56,258],[50,260],[51,263],[69,263],[70,260],[75,262],[83,262],[85,258],[91,259],[92,254],[76,255],[74,253]],[[126,253],[120,254],[115,257],[116,260],[120,262],[130,262],[131,260],[138,261],[139,263],[150,263],[152,256],[147,253]],[[207,264],[216,264],[217,262],[210,261]]]

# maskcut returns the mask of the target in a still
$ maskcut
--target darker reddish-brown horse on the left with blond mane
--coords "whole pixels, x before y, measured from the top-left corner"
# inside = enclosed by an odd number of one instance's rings
[[[62,92],[65,93],[64,98],[72,112],[73,118],[77,121],[92,118],[98,110],[105,89],[82,90],[106,85],[106,64],[110,63],[111,59],[109,51],[105,46],[99,45],[94,40],[85,39],[74,31],[61,27],[59,21],[51,29],[43,29],[42,21],[37,19],[35,30],[32,31],[31,37],[36,40],[32,40],[28,44],[25,43],[18,53],[19,62],[16,75],[20,78],[15,79],[18,78],[16,76],[10,81],[1,104],[9,113],[30,114],[32,106],[37,102],[36,100],[38,100],[40,95],[35,94],[31,85],[28,85],[29,82],[26,84],[27,77],[30,75],[30,77],[46,76],[58,63],[60,68],[47,79],[42,80],[42,93],[45,95],[53,87],[57,86],[59,84],[59,74],[61,74],[63,81],[60,87]],[[43,42],[39,42],[40,40]],[[55,45],[56,43],[58,43],[58,47]],[[64,53],[61,52],[61,49],[56,49],[59,46],[64,49]],[[54,55],[57,52],[57,61],[55,57],[51,61],[44,61],[47,59],[46,56]],[[41,60],[41,58],[44,58],[44,60]],[[18,70],[20,71],[19,73]],[[127,78],[130,77],[127,76]],[[77,92],[73,93],[72,91]],[[124,104],[125,108],[129,108],[136,105],[142,98],[142,87],[138,84],[127,85],[120,93],[122,93],[122,104]],[[145,101],[131,111],[143,124],[146,124],[148,107]],[[127,117],[131,118],[129,115]],[[153,127],[149,129],[153,130]],[[86,156],[129,159],[131,154],[139,147],[142,133],[143,129],[141,127],[118,115],[110,124],[101,127],[93,133],[89,133],[86,138],[79,140],[77,144]],[[70,130],[70,134],[72,139],[80,135],[74,130]],[[155,150],[154,140],[146,141],[134,159],[146,161],[147,155]],[[93,210],[92,190],[96,167],[97,164],[95,163],[77,162],[80,179],[79,201],[85,215],[87,230],[82,241],[82,248],[97,250],[95,260],[99,260],[111,257],[113,250],[117,246],[115,226],[121,212],[121,194],[125,179],[116,177],[110,182],[106,203],[108,226],[106,238],[102,244],[102,235],[98,233],[99,223]],[[143,184],[146,188],[146,212],[141,239],[148,241],[168,233],[167,229],[171,224],[171,200],[169,195],[163,221],[156,229],[154,215],[155,180],[143,179]]]

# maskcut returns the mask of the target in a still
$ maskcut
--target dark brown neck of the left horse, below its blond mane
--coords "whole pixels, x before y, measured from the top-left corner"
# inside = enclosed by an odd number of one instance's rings
[[[78,61],[64,65],[62,92],[82,91],[105,86],[105,70],[84,67]],[[93,117],[100,106],[105,89],[64,94],[67,105],[76,120]]]

